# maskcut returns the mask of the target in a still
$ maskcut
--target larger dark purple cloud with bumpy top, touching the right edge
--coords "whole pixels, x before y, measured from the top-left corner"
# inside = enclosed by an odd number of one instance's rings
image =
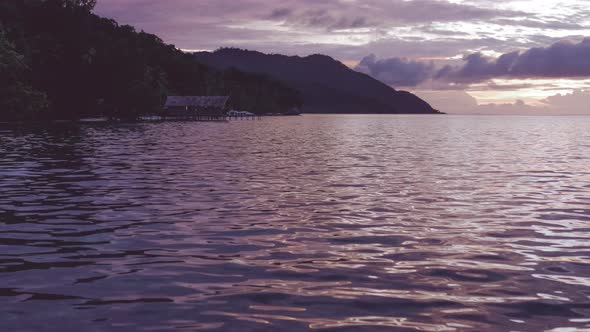
[[[492,78],[590,77],[590,38],[577,44],[563,41],[546,48],[505,53],[496,59],[473,53],[464,60],[461,66],[443,67],[435,79],[476,83]]]

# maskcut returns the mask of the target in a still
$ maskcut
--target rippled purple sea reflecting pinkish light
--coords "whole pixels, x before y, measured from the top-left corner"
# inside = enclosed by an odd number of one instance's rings
[[[0,330],[590,331],[590,117],[0,127]]]

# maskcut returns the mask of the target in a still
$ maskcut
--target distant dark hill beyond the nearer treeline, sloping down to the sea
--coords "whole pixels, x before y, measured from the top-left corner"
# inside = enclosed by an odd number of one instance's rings
[[[234,48],[194,54],[218,69],[266,74],[298,89],[306,113],[435,114],[424,100],[356,72],[325,55],[307,57],[264,54]]]

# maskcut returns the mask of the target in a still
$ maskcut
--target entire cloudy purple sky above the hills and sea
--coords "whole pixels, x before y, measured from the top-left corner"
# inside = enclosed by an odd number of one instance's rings
[[[452,113],[590,114],[590,0],[98,0],[185,50],[330,55]]]

